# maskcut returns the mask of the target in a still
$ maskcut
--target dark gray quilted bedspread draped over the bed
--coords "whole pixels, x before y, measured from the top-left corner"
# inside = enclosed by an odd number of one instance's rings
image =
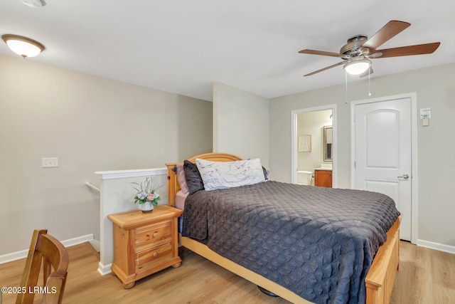
[[[189,195],[182,234],[311,302],[365,303],[399,215],[384,194],[269,181]]]

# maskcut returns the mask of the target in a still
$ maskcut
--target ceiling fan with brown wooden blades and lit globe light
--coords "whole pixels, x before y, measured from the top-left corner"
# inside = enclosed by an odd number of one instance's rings
[[[347,73],[363,77],[373,73],[370,59],[422,55],[430,54],[436,51],[439,44],[441,44],[440,42],[418,44],[415,46],[402,46],[400,48],[377,49],[383,43],[390,40],[401,31],[404,31],[410,25],[411,23],[407,23],[405,21],[389,21],[370,38],[366,35],[355,35],[350,37],[348,39],[348,43],[341,48],[340,53],[314,51],[309,49],[299,51],[299,53],[302,54],[331,56],[343,59],[343,61],[339,63],[330,65],[326,68],[321,68],[321,70],[316,70],[312,73],[306,74],[305,76],[314,75],[322,72],[323,70],[335,68],[338,65],[344,65],[344,69]]]

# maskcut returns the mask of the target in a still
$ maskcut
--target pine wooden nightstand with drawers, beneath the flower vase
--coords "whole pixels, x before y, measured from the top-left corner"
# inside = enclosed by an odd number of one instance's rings
[[[181,266],[177,218],[182,213],[159,205],[148,214],[133,210],[107,216],[114,225],[112,274],[124,288],[132,288],[137,280],[169,266]]]

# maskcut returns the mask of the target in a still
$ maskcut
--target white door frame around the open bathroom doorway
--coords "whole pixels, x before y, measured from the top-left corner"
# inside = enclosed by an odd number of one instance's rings
[[[336,104],[322,105],[314,108],[304,108],[291,111],[291,183],[297,182],[297,115],[306,112],[317,112],[322,110],[332,110],[332,187],[336,188],[337,185],[337,139],[336,139]]]

